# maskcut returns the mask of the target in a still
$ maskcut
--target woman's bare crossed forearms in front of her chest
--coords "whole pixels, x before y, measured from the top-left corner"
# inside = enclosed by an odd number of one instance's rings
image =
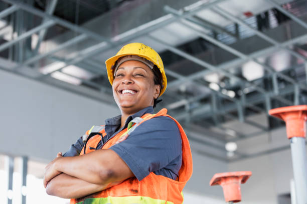
[[[78,198],[132,176],[130,168],[115,151],[99,149],[81,156],[58,155],[45,168],[44,186],[50,195]]]

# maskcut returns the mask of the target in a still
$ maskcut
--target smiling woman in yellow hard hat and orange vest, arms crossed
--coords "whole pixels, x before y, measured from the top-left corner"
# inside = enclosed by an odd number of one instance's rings
[[[160,55],[129,43],[106,60],[106,68],[121,115],[93,126],[58,153],[45,168],[47,193],[71,203],[181,204],[192,155],[167,109],[152,114],[167,87]]]

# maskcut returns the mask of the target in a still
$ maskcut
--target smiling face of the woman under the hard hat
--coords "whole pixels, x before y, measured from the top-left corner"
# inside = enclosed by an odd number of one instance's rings
[[[154,83],[154,73],[144,63],[128,60],[120,64],[112,84],[114,99],[122,114],[133,114],[154,104],[160,85]]]

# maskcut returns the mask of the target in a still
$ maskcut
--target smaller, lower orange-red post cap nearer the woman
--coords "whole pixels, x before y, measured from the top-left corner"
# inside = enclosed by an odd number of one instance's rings
[[[221,185],[223,187],[224,198],[226,202],[240,202],[240,183],[245,183],[251,174],[251,171],[216,173],[211,178],[210,185]]]

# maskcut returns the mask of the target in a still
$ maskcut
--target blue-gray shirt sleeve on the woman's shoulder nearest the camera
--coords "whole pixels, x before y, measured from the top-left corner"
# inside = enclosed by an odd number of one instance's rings
[[[182,140],[176,122],[158,116],[138,125],[127,139],[110,147],[129,166],[138,180],[170,163],[176,174],[181,166]],[[180,159],[178,159],[180,158]],[[174,163],[176,160],[176,163]]]

